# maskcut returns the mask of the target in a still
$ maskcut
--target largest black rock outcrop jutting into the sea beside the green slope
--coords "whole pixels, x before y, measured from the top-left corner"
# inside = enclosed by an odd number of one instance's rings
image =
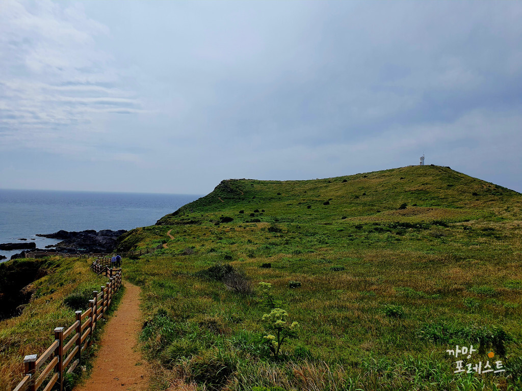
[[[125,229],[113,231],[111,229],[102,229],[95,231],[94,229],[87,229],[85,231],[64,231],[60,230],[54,234],[38,234],[37,236],[61,239],[57,243],[56,251],[67,252],[70,254],[86,254],[86,253],[101,253],[111,252],[117,245],[117,239],[125,234]]]

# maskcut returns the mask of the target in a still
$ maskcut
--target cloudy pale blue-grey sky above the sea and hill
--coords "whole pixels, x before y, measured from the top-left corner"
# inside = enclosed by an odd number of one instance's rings
[[[419,164],[522,192],[522,2],[0,1],[0,188]]]

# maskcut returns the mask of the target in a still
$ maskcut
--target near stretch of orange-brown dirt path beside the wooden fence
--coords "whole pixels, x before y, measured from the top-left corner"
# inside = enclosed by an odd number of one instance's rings
[[[91,376],[74,391],[141,391],[148,388],[148,364],[137,347],[141,330],[139,292],[139,287],[125,282],[125,294],[105,326]]]

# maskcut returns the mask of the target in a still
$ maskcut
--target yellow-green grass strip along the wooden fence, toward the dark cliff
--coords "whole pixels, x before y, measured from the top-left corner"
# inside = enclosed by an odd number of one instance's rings
[[[21,380],[23,357],[31,354],[41,355],[51,345],[54,341],[55,327],[68,327],[75,322],[70,299],[85,296],[85,292],[89,291],[92,296],[93,290],[99,290],[107,282],[105,277],[97,276],[89,269],[92,260],[53,256],[38,261],[42,270],[48,274],[31,283],[34,294],[31,301],[23,308],[21,315],[0,322],[0,389],[2,390],[13,389]],[[109,315],[117,307],[122,292],[123,289],[120,289],[113,296]],[[88,301],[84,304],[88,304]],[[74,300],[73,307],[87,309],[87,306],[82,306],[78,300]],[[104,322],[99,323],[100,326],[103,324]],[[97,327],[93,336],[94,345],[85,356],[82,356],[83,359],[89,360],[96,352],[96,341],[100,338],[102,329],[103,327]],[[86,362],[89,369],[91,363]],[[77,375],[68,375],[66,378],[68,389],[72,389],[77,380]]]

